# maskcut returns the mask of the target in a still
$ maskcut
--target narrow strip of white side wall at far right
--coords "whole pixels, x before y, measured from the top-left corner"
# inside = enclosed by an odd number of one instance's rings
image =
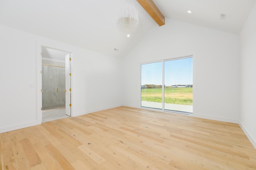
[[[240,32],[240,126],[256,148],[256,4]]]

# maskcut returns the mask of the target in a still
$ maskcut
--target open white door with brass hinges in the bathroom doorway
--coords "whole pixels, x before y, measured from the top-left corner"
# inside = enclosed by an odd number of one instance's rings
[[[66,55],[66,115],[71,116],[71,54]]]

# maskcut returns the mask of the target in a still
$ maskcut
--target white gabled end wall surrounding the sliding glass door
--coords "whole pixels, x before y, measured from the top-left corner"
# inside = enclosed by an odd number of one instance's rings
[[[194,55],[193,115],[238,123],[238,35],[166,18],[124,58],[125,106],[140,107],[140,63]]]

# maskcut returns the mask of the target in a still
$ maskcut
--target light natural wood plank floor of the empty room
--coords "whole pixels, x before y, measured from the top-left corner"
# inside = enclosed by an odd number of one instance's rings
[[[3,170],[247,170],[238,124],[117,107],[0,134]]]

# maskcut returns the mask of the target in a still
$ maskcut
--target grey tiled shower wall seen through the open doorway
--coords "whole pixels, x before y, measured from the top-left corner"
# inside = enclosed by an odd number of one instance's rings
[[[65,107],[65,63],[42,60],[42,107]],[[58,88],[58,91],[57,91]]]

